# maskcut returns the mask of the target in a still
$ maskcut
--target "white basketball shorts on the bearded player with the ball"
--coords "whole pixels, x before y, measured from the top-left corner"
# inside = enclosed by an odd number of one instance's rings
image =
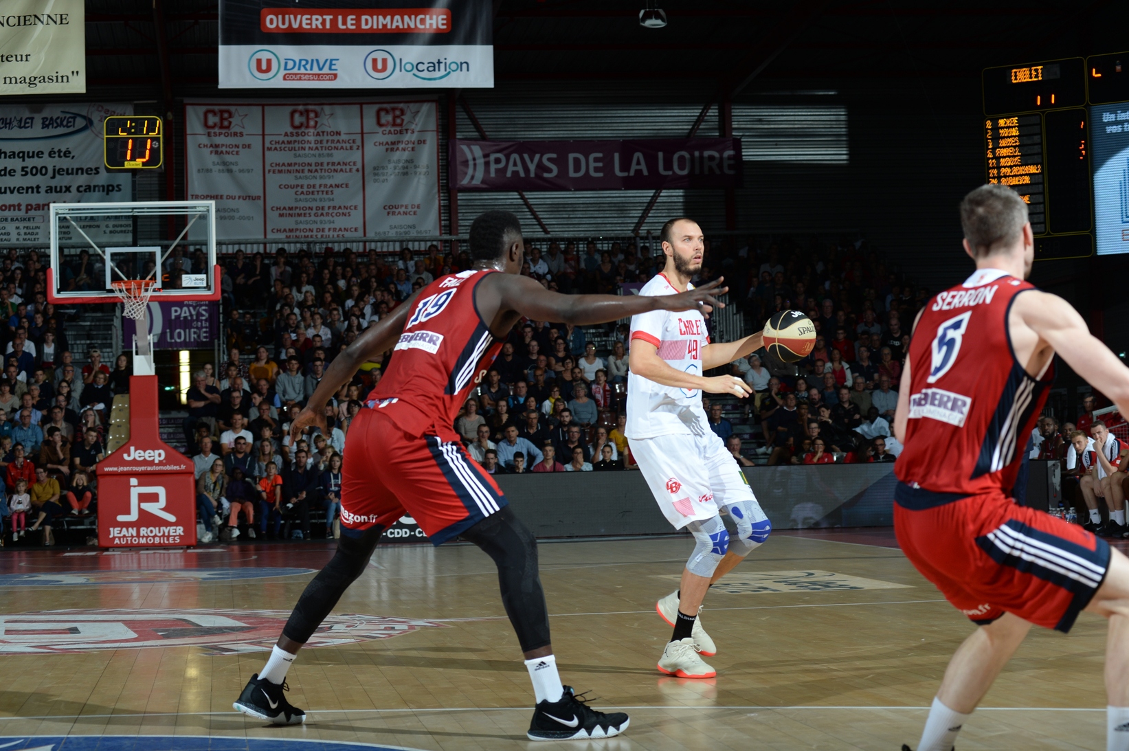
[[[712,430],[701,436],[632,438],[631,455],[676,530],[695,519],[712,518],[729,504],[756,504],[745,473]]]

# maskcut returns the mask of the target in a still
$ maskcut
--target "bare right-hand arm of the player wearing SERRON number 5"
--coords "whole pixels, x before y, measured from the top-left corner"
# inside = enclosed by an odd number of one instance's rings
[[[1053,349],[1075,373],[1113,400],[1122,414],[1129,414],[1129,368],[1102,340],[1089,333],[1073,305],[1058,295],[1032,290],[1015,298],[1012,313],[1038,335],[1033,356],[1040,353],[1041,348]],[[1017,352],[1023,351],[1023,333],[1022,329],[1013,326],[1012,341]]]

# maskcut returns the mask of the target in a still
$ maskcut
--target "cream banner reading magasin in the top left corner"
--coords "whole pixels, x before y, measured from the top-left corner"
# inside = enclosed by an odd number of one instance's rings
[[[0,2],[0,95],[86,94],[84,0]]]

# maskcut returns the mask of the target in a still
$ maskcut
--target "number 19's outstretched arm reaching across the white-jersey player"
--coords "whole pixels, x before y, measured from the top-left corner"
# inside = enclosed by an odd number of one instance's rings
[[[561,295],[546,290],[528,277],[492,273],[482,280],[476,302],[480,311],[496,309],[488,297],[496,297],[497,309],[516,311],[534,321],[571,323],[578,326],[609,323],[648,311],[701,311],[725,307],[716,295],[725,295],[721,279],[681,295]]]

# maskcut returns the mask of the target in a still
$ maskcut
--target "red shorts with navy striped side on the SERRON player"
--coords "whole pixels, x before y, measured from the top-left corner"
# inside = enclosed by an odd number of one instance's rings
[[[894,500],[905,557],[974,623],[1008,612],[1069,631],[1105,578],[1104,540],[1001,491],[959,497],[900,482]]]

